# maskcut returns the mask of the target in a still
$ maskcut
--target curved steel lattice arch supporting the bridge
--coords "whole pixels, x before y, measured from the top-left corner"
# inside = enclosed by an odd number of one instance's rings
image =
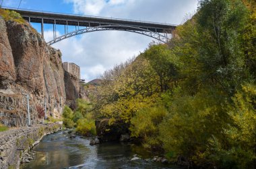
[[[159,32],[153,32],[153,31],[146,30],[143,28],[137,28],[137,27],[133,27],[133,26],[122,26],[122,25],[109,25],[109,26],[87,27],[84,29],[75,30],[73,32],[69,32],[62,36],[54,38],[53,40],[47,42],[47,44],[51,45],[51,44],[55,44],[56,42],[59,42],[63,39],[70,38],[72,36],[76,36],[79,34],[85,34],[88,32],[103,31],[103,30],[121,30],[121,31],[133,32],[133,33],[137,33],[137,34],[143,34],[145,36],[149,36],[151,38],[154,38],[154,39],[159,40],[160,42],[164,42],[164,43],[166,43],[166,42],[168,42],[168,40],[170,40],[170,38],[168,38],[168,36],[167,36],[167,32],[166,32],[166,35],[164,36],[163,34],[160,34]],[[168,34],[170,34],[170,33],[168,32]]]

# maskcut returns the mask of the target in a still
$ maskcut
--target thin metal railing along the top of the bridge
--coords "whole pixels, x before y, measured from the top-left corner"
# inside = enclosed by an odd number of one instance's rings
[[[127,22],[139,22],[143,24],[160,24],[165,26],[178,26],[177,24],[166,24],[166,23],[160,23],[160,22],[147,22],[147,21],[141,21],[141,20],[127,20],[127,19],[121,19],[121,18],[108,18],[108,17],[102,17],[102,16],[94,16],[94,15],[80,15],[80,14],[73,14],[73,13],[61,13],[61,12],[51,12],[51,11],[40,11],[40,10],[33,10],[33,9],[22,9],[22,8],[15,8],[15,7],[6,7],[2,6],[2,9],[9,9],[9,10],[20,10],[20,11],[32,11],[32,12],[40,12],[40,13],[51,13],[51,14],[59,14],[59,15],[70,15],[70,16],[80,16],[80,17],[87,17],[87,18],[96,18],[96,19],[106,19],[106,20],[120,20],[120,21],[127,21]]]

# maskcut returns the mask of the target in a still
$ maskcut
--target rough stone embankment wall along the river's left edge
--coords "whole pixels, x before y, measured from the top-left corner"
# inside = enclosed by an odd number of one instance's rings
[[[34,125],[20,127],[0,133],[0,168],[19,168],[21,162],[29,162],[29,152],[38,144],[44,135],[55,133],[62,125]]]

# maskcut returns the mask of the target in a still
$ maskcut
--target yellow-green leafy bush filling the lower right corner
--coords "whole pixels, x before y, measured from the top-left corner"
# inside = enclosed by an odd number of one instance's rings
[[[251,168],[256,160],[256,85],[243,85],[232,102],[226,107],[232,124],[224,129],[223,139],[215,136],[209,139],[203,157],[224,168]]]

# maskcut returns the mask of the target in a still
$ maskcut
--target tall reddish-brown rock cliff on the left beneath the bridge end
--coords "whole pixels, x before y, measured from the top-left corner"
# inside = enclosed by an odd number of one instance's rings
[[[5,22],[0,16],[0,123],[9,127],[27,123],[30,96],[31,123],[39,123],[37,107],[48,116],[60,116],[65,105],[64,69],[59,50],[48,46],[29,24]]]

